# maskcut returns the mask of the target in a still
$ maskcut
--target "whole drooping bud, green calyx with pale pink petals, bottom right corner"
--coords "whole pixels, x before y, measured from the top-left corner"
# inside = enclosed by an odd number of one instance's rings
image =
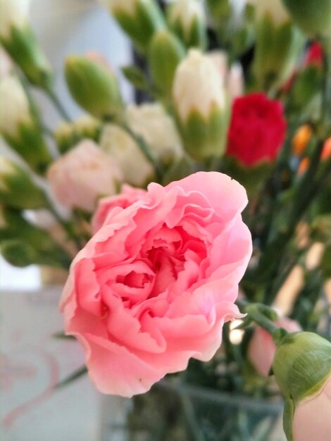
[[[327,440],[331,433],[331,343],[314,333],[286,335],[278,343],[273,373],[285,396],[287,439]]]

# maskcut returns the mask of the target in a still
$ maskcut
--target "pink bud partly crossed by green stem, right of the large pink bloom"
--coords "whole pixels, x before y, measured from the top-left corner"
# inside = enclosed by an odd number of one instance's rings
[[[301,326],[297,321],[287,317],[280,318],[275,322],[275,325],[286,329],[289,333],[295,333],[301,330]],[[263,375],[263,377],[268,377],[275,352],[276,345],[273,342],[273,337],[260,326],[256,326],[251,341],[249,342],[248,357],[251,364],[256,368],[256,371],[260,375]]]

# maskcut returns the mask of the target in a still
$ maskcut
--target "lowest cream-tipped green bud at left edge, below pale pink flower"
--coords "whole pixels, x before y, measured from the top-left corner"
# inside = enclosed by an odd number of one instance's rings
[[[30,175],[4,156],[0,157],[0,199],[17,209],[39,209],[47,205],[44,193]]]

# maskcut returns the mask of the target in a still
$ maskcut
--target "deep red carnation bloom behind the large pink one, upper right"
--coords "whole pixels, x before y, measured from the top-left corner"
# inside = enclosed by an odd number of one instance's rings
[[[280,101],[266,94],[249,94],[232,104],[227,154],[245,166],[273,161],[285,138],[286,120]]]

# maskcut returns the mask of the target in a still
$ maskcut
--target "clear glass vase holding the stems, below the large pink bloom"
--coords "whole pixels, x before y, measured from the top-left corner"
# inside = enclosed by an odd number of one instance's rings
[[[102,408],[101,441],[286,441],[279,397],[160,382],[132,399],[105,396]]]

